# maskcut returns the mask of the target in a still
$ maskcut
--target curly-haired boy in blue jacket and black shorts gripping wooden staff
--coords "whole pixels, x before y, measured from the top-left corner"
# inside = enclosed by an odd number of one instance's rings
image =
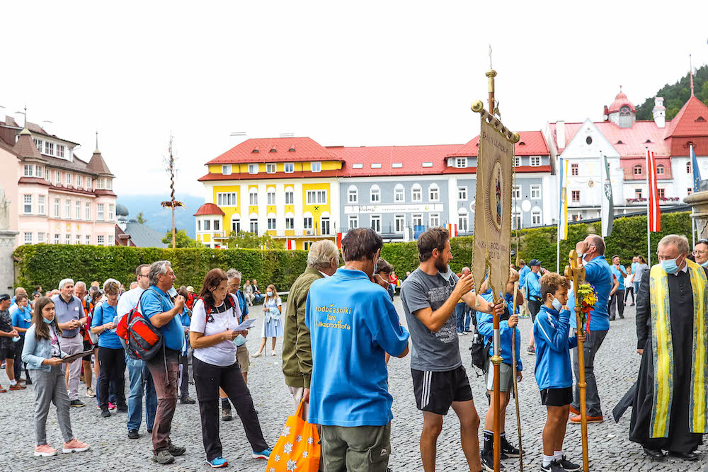
[[[566,460],[563,439],[573,401],[573,373],[570,350],[578,338],[569,339],[568,289],[570,281],[555,272],[541,277],[544,304],[536,317],[533,330],[536,339],[536,382],[541,403],[546,405],[547,420],[543,428],[543,464],[541,472],[579,471],[580,466]],[[585,333],[579,336],[585,340]]]

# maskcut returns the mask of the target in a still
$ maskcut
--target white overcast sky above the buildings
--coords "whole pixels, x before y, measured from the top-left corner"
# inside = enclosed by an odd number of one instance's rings
[[[513,130],[600,120],[708,62],[707,1],[23,2],[2,6],[0,105],[81,143],[121,194],[202,195],[230,132],[323,145],[455,144],[479,132],[489,43]],[[178,6],[181,5],[181,6]],[[690,4],[692,8],[680,4]],[[702,10],[702,11],[700,11]]]

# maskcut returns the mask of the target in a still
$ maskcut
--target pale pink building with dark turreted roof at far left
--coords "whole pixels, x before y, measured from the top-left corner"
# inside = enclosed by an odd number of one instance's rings
[[[0,106],[0,187],[10,203],[9,228],[21,244],[115,244],[113,178],[96,149],[86,162],[77,143],[6,115]],[[96,146],[98,148],[98,144]]]

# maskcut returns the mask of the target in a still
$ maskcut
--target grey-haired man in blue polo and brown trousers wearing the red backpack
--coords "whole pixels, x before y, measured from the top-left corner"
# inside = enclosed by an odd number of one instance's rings
[[[176,280],[169,260],[150,265],[150,287],[140,299],[140,313],[159,328],[164,340],[164,352],[147,361],[157,393],[157,411],[152,427],[152,460],[158,464],[172,464],[176,456],[185,453],[184,447],[172,444],[170,430],[177,405],[177,378],[179,355],[184,340],[184,328],[177,316],[184,306],[184,297],[178,295],[173,303],[167,294]]]

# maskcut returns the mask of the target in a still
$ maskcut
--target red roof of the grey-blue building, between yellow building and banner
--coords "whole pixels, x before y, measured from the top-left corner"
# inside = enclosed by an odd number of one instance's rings
[[[344,161],[343,177],[362,177],[373,175],[425,175],[440,174],[445,170],[445,156],[460,144],[433,144],[429,146],[361,146],[328,147],[327,150],[340,156]],[[432,163],[423,167],[423,163]],[[394,167],[400,163],[401,167]],[[361,164],[361,168],[354,168]],[[372,168],[372,164],[380,167]]]

